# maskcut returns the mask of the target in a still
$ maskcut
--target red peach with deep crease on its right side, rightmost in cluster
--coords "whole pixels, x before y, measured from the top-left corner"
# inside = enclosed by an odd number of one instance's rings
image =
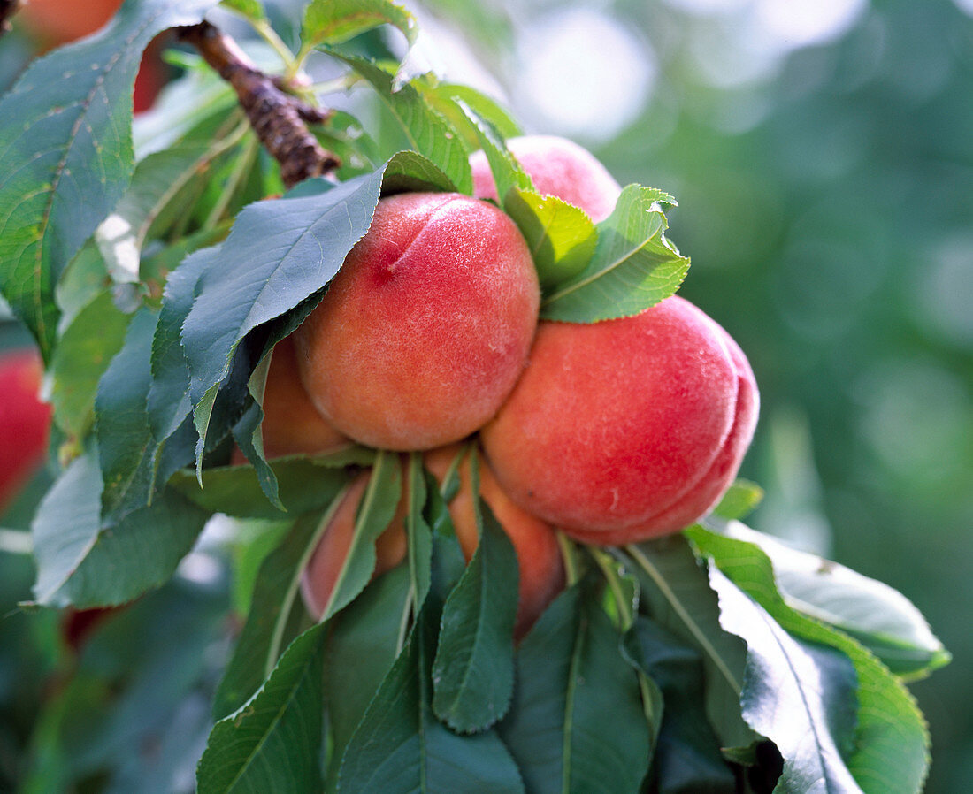
[[[541,323],[530,365],[483,443],[523,509],[579,540],[631,543],[715,505],[758,403],[739,346],[672,297],[624,319]]]

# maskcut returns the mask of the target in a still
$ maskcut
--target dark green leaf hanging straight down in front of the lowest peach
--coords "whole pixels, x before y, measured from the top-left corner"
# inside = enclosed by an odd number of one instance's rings
[[[474,466],[474,471],[475,471]],[[473,475],[473,492],[479,478]],[[477,733],[507,712],[514,688],[517,552],[480,502],[480,542],[443,607],[432,707],[454,731]]]

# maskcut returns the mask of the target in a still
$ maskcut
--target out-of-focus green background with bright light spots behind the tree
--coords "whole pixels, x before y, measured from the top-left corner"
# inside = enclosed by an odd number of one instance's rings
[[[269,5],[279,20],[303,3]],[[919,606],[954,654],[913,685],[933,737],[926,791],[969,790],[973,0],[414,10],[448,78],[494,93],[528,131],[585,144],[623,184],[679,199],[670,236],[693,261],[681,294],[739,340],[761,385],[742,473],[768,493],[750,523]],[[0,82],[27,54],[8,37]],[[15,341],[11,324],[0,331],[0,345]],[[24,558],[0,555],[4,611],[30,579]],[[0,773],[32,719],[31,687],[57,672],[53,620],[0,622]],[[218,641],[206,621],[202,638]],[[218,661],[173,686],[199,686]],[[37,679],[18,686],[27,667]]]

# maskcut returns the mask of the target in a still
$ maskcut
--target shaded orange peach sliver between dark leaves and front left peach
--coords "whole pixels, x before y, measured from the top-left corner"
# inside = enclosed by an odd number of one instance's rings
[[[273,348],[264,389],[262,432],[264,453],[268,458],[323,454],[350,443],[318,413],[307,396],[291,337],[281,340]]]

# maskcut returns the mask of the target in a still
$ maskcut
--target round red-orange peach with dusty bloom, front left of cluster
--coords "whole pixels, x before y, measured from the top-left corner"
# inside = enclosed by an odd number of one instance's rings
[[[407,193],[368,233],[295,332],[318,411],[387,450],[430,450],[480,428],[514,387],[540,288],[523,236],[486,201]]]

